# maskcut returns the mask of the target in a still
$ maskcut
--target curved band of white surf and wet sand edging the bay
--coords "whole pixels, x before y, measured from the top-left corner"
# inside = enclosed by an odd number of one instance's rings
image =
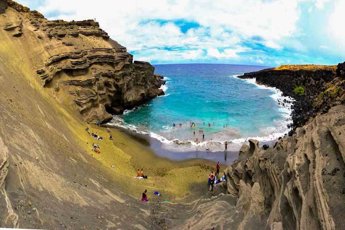
[[[272,91],[273,94],[270,95],[270,97],[275,101],[277,106],[279,107],[279,111],[282,112],[282,119],[280,120],[274,120],[273,124],[274,127],[283,127],[284,130],[275,130],[273,133],[270,134],[264,134],[262,132],[262,135],[258,136],[249,136],[249,137],[242,137],[242,138],[235,138],[228,141],[228,152],[227,156],[225,156],[224,151],[219,151],[219,149],[224,148],[222,146],[217,146],[216,149],[210,148],[210,151],[206,151],[206,148],[208,148],[207,143],[209,141],[202,141],[200,144],[193,143],[193,140],[185,140],[185,141],[179,141],[178,139],[169,140],[164,136],[161,136],[160,134],[151,132],[151,131],[141,131],[136,126],[132,124],[122,124],[123,119],[114,116],[112,122],[103,123],[102,127],[112,127],[112,128],[118,128],[119,130],[122,130],[123,132],[126,132],[128,135],[131,136],[131,138],[135,139],[142,139],[142,142],[147,142],[147,145],[150,147],[152,151],[155,152],[155,154],[159,157],[165,157],[170,160],[174,161],[182,161],[186,159],[197,159],[197,158],[203,158],[206,160],[211,161],[219,161],[221,163],[226,163],[228,165],[231,164],[231,160],[233,160],[233,156],[237,155],[242,147],[243,144],[249,145],[248,140],[249,139],[255,139],[260,142],[260,147],[262,147],[264,144],[268,144],[269,146],[274,146],[276,141],[278,141],[279,137],[287,136],[289,133],[289,123],[291,121],[291,116],[293,113],[292,108],[290,108],[290,104],[294,104],[294,100],[287,98],[283,96],[283,92],[279,90],[278,88],[272,87],[272,86],[266,86],[264,84],[258,84],[256,81],[248,81],[247,79],[239,78],[239,76],[243,75],[231,75],[230,77],[237,78],[240,80],[247,81],[248,84],[254,84],[258,88],[265,88],[266,90]],[[255,78],[254,78],[255,79]],[[284,102],[286,100],[289,100],[288,103]],[[280,101],[281,100],[281,101]],[[125,111],[125,112],[131,112],[131,110]],[[271,127],[267,127],[271,128]],[[180,144],[187,144],[190,142],[193,147],[192,149],[187,149],[185,151],[174,151],[175,146],[170,145],[176,145],[176,149]],[[212,141],[211,141],[212,142]],[[217,142],[217,144],[223,145],[224,141],[214,141]],[[163,147],[164,145],[164,147]],[[174,148],[171,148],[174,147]],[[189,147],[190,148],[190,147]],[[171,150],[173,149],[173,150]],[[229,161],[228,156],[231,156],[231,159]]]

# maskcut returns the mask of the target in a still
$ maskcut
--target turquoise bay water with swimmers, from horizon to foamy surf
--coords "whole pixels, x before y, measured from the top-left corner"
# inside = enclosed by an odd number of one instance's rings
[[[112,124],[149,134],[162,142],[162,148],[174,151],[220,151],[225,141],[229,149],[238,150],[250,137],[269,141],[288,132],[290,110],[278,104],[277,99],[284,100],[281,92],[258,86],[255,79],[236,78],[265,67],[166,64],[155,68],[166,77],[165,95],[115,116]]]

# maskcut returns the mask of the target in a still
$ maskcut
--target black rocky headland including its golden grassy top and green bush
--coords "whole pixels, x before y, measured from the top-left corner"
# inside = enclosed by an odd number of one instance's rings
[[[345,63],[345,62],[344,62]],[[256,83],[275,87],[283,92],[283,96],[293,98],[294,101],[282,101],[289,103],[292,112],[292,123],[289,125],[292,136],[297,127],[303,126],[310,118],[322,112],[325,113],[335,104],[344,103],[342,91],[333,92],[333,99],[319,101],[322,92],[330,90],[333,80],[339,82],[344,78],[344,63],[338,66],[317,66],[317,65],[291,65],[277,68],[264,69],[257,72],[245,73],[239,78],[256,78]],[[328,92],[327,91],[327,92]],[[331,92],[329,92],[331,93]],[[335,102],[337,101],[337,102]],[[316,106],[317,103],[317,106]],[[322,108],[321,108],[322,107]]]

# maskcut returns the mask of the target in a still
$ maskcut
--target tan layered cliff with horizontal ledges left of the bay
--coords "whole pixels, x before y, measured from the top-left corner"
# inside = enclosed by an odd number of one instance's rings
[[[154,74],[155,68],[133,62],[132,54],[98,22],[49,21],[37,11],[2,0],[0,12],[5,10],[6,23],[0,26],[13,37],[38,44],[31,62],[42,87],[78,110],[85,121],[106,122],[111,114],[164,94],[159,88],[165,82]]]

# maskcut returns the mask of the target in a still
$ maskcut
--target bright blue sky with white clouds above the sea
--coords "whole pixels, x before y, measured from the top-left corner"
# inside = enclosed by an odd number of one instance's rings
[[[345,0],[17,0],[48,19],[94,19],[135,60],[337,64]]]

